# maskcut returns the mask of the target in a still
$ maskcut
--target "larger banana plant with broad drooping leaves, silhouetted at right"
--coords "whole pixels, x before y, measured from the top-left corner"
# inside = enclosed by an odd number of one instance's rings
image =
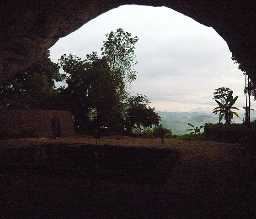
[[[232,110],[239,110],[235,106],[235,101],[237,100],[238,96],[235,98],[232,96],[233,91],[230,91],[227,98],[225,99],[224,103],[219,102],[218,100],[215,99],[216,103],[219,105],[218,107],[213,109],[213,113],[220,113],[220,120],[223,119],[223,117],[226,120],[226,124],[230,124],[231,120],[233,119],[234,115],[239,117],[239,115],[232,111]]]

